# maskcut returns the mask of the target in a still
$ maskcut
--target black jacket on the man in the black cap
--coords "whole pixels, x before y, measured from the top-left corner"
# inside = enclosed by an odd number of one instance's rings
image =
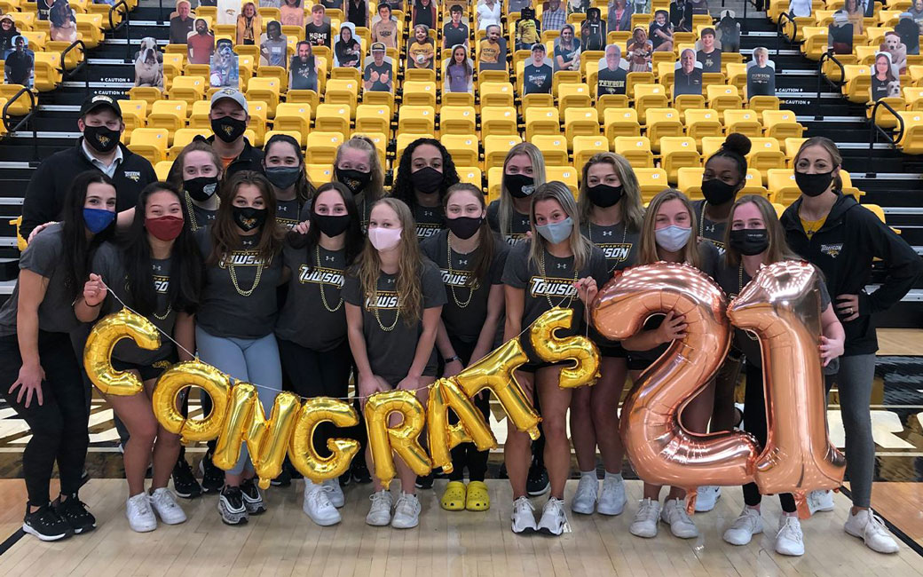
[[[44,222],[55,221],[64,209],[67,191],[78,174],[99,169],[90,162],[83,152],[83,138],[77,146],[55,152],[44,160],[32,174],[26,188],[26,198],[22,204],[22,225],[19,232],[28,238],[32,229]],[[157,182],[154,167],[147,159],[128,150],[124,144],[122,162],[115,169],[116,210],[127,210],[138,203],[141,189],[152,182]]]

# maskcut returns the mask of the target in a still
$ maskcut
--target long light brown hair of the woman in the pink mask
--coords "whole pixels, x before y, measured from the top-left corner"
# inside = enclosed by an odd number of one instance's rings
[[[423,304],[423,283],[420,280],[423,270],[423,253],[420,252],[420,244],[416,239],[416,223],[410,209],[401,200],[390,197],[378,198],[372,205],[372,210],[375,210],[379,204],[388,205],[398,215],[398,221],[401,222],[399,245],[401,256],[398,261],[396,282],[398,303],[404,323],[413,325],[422,318]],[[362,286],[362,293],[366,295],[366,300],[374,300],[374,295],[378,292],[378,276],[381,274],[381,258],[378,258],[378,250],[366,239],[366,246],[356,260],[356,276]]]

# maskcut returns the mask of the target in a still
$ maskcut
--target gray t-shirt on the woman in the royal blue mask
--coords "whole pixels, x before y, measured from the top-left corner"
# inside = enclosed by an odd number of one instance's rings
[[[70,270],[62,266],[64,238],[62,225],[52,224],[42,234],[36,234],[19,258],[20,270],[31,270],[48,279],[45,296],[39,305],[39,329],[47,332],[70,332],[80,326],[74,315],[75,293],[67,284]],[[82,294],[83,287],[78,287]],[[0,308],[0,336],[16,334],[16,313],[19,299],[19,282],[13,294]]]

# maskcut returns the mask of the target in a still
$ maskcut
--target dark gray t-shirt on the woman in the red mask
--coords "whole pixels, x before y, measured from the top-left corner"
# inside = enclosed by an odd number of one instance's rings
[[[169,307],[170,292],[170,267],[171,259],[163,260],[152,258],[150,260],[151,273],[153,274],[154,292],[157,294],[157,304],[154,307],[154,313],[147,317],[158,329],[173,335],[176,324],[176,311]],[[90,270],[102,276],[102,282],[105,282],[115,294],[125,301],[126,306],[136,308],[136,299],[128,291],[128,276],[125,269],[125,257],[116,246],[105,243],[100,246],[96,254],[93,255],[93,261]],[[122,305],[115,300],[110,293],[106,295],[106,300],[102,304],[100,318],[105,315],[118,312]],[[157,361],[169,358],[173,355],[174,344],[161,334],[161,346],[156,351],[142,349],[131,339],[122,339],[113,350],[113,358],[126,363],[136,365],[153,365]]]

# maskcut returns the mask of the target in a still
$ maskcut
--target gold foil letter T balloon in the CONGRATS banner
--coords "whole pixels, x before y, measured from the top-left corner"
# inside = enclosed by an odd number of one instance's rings
[[[513,376],[513,370],[528,360],[529,357],[522,351],[520,342],[510,339],[490,355],[464,369],[454,380],[470,399],[484,389],[492,391],[513,425],[529,433],[529,437],[534,440],[538,439],[538,423],[542,419],[535,413],[522,387]]]

